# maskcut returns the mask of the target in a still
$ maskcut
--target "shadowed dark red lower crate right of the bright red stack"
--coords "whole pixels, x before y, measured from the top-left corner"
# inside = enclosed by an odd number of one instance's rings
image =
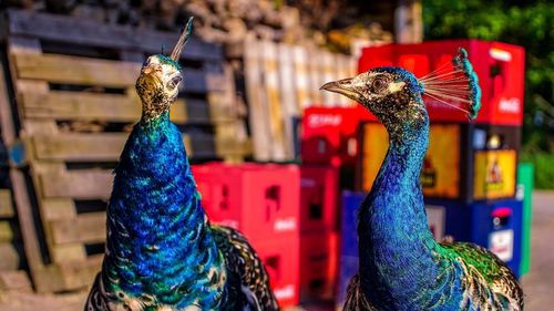
[[[301,301],[332,300],[338,269],[338,234],[324,231],[300,236]]]

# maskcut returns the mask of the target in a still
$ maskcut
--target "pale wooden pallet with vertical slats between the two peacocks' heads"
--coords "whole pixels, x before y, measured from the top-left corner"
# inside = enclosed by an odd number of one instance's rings
[[[319,87],[353,76],[353,58],[320,49],[288,45],[248,37],[244,43],[254,158],[295,159],[295,120],[312,105],[348,106],[351,101]]]

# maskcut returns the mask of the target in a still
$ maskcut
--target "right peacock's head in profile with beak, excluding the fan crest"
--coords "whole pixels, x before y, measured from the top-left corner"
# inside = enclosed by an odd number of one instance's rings
[[[369,110],[383,125],[399,127],[425,122],[423,85],[400,68],[377,68],[351,79],[326,83],[321,90],[342,94]],[[391,128],[389,128],[391,129]]]

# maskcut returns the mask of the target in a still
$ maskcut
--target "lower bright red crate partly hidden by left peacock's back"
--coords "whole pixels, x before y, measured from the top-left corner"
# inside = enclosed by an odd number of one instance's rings
[[[279,307],[297,305],[300,283],[300,240],[298,237],[274,239],[271,241],[252,241],[266,267],[271,282],[271,290]]]

